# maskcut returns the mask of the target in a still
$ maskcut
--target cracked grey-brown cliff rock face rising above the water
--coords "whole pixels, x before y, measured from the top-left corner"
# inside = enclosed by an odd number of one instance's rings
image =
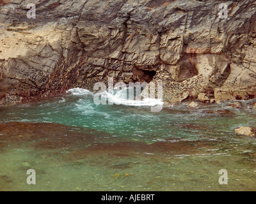
[[[256,97],[256,2],[0,0],[0,101],[162,82],[164,101]],[[227,3],[228,18],[219,4]]]

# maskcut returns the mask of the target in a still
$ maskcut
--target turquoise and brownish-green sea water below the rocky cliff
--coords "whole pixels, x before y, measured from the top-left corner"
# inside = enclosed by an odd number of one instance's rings
[[[254,191],[255,100],[242,108],[188,103],[95,105],[93,94],[0,106],[1,191]],[[28,185],[26,171],[36,171]],[[220,185],[219,170],[228,171]]]

